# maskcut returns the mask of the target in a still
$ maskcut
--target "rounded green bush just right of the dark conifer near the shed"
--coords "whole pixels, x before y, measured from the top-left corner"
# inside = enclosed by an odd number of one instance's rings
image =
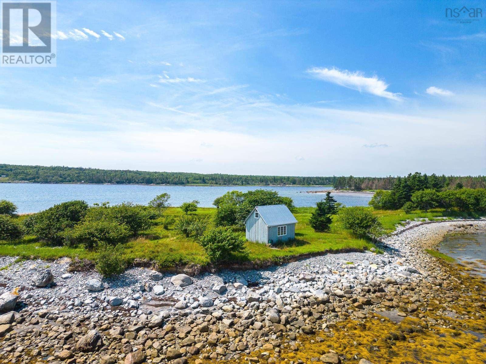
[[[374,239],[382,233],[380,221],[365,207],[355,206],[342,209],[339,213],[339,219],[345,229],[361,238],[370,237]]]

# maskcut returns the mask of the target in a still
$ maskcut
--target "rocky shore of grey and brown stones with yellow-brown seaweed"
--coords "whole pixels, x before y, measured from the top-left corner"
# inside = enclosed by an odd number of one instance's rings
[[[195,277],[0,257],[0,363],[483,363],[484,279],[424,251],[451,232],[486,220],[408,222],[382,254]]]

